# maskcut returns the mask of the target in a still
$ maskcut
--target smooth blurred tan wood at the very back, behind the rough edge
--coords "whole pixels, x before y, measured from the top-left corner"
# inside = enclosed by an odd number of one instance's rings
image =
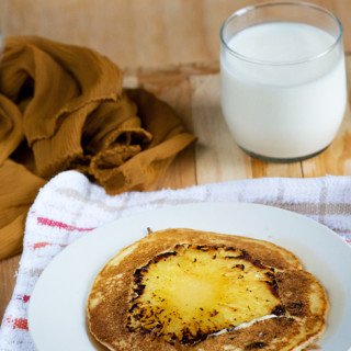
[[[88,45],[121,67],[211,63],[235,10],[267,0],[1,0],[5,35],[35,34]],[[279,0],[278,0],[279,1]],[[309,0],[333,11],[351,50],[351,1]]]

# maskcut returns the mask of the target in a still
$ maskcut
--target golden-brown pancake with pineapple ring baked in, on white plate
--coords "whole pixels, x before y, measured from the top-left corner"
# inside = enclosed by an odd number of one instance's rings
[[[110,350],[303,350],[326,326],[324,287],[288,250],[192,229],[147,235],[98,274],[91,335]]]

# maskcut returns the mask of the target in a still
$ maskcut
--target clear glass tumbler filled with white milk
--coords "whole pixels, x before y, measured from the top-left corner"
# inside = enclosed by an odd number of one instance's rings
[[[267,2],[220,30],[222,110],[237,144],[273,161],[329,146],[347,105],[342,26],[328,10]]]

